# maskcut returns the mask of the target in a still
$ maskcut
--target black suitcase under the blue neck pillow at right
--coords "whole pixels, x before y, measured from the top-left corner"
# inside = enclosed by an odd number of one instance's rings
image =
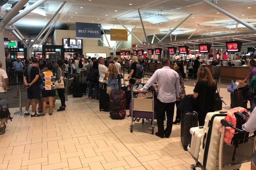
[[[230,99],[231,99],[231,103],[230,103],[231,108],[240,106],[247,109],[247,103],[244,102],[244,97],[240,90],[235,90],[233,93],[230,93]]]

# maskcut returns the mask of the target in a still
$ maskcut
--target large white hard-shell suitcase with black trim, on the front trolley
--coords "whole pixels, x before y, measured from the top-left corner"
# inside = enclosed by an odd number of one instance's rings
[[[219,127],[220,120],[227,114],[209,112],[205,118],[198,161],[207,170],[219,170]],[[241,164],[223,168],[223,170],[239,169]]]

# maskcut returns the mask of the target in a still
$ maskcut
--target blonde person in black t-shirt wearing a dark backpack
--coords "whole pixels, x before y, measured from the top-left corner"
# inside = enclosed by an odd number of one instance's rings
[[[144,76],[144,67],[138,63],[138,57],[132,57],[131,72],[125,81],[130,81],[130,84],[135,85],[137,82],[141,83],[141,79]]]

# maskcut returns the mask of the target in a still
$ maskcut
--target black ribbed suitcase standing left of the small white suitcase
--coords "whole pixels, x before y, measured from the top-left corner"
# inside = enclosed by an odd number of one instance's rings
[[[198,117],[195,111],[181,112],[181,143],[184,150],[187,150],[190,138],[190,128],[198,126]]]

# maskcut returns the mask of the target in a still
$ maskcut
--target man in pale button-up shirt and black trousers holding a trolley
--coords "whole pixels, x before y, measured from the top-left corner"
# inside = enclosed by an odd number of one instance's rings
[[[175,101],[180,93],[179,75],[170,68],[170,61],[167,57],[161,60],[162,68],[157,69],[148,82],[138,92],[147,91],[156,81],[158,82],[158,95],[155,111],[157,112],[158,137],[170,137],[173,127],[173,115]],[[165,112],[167,116],[166,128],[164,129]]]

